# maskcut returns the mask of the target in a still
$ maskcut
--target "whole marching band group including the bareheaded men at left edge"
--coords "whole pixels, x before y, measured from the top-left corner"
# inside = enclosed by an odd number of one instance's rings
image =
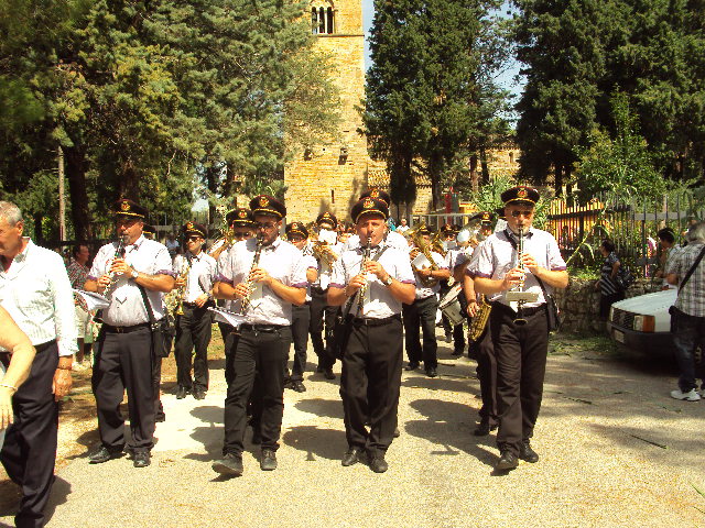
[[[531,438],[546,363],[546,301],[554,288],[567,285],[567,273],[555,239],[532,227],[539,193],[518,186],[501,198],[503,208],[475,217],[476,230],[446,226],[433,233],[405,222],[390,229],[390,199],[380,189],[359,197],[347,226],[325,211],[313,222],[285,223],[284,204],[260,195],[249,208],[227,213],[225,235],[208,251],[207,229],[184,224],[183,252],[175,258],[172,248],[153,240],[148,211],[120,199],[117,240],[99,249],[89,268],[78,248],[79,265],[69,274],[58,255],[22,235],[21,211],[0,202],[0,305],[7,310],[0,311],[0,328],[13,319],[36,351],[29,371],[24,349],[0,337],[2,350],[17,352],[3,354],[10,369],[0,381],[0,413],[10,402],[3,398],[11,398],[14,421],[0,460],[22,486],[18,526],[43,526],[57,402],[70,389],[72,364],[84,344],[79,337],[87,332],[72,287],[105,302],[96,315],[101,324],[91,380],[100,444],[89,453],[90,463],[127,452],[135,468],[150,465],[155,422],[165,419],[160,380],[171,349],[163,343],[166,322],[174,316],[176,398],[203,399],[215,315],[227,394],[223,454],[214,471],[242,474],[248,427],[261,448],[260,468],[276,468],[284,389],[306,391],[311,338],[317,373],[335,380],[335,363],[341,363],[343,465],[366,461],[382,473],[399,435],[402,371],[423,367],[426,376],[437,376],[440,299],[453,308],[446,312],[442,306],[442,319],[454,355],[464,353],[464,328],[470,328],[468,353],[477,361],[482,399],[475,435],[498,429],[498,471],[517,468],[520,459],[536,462]],[[173,299],[171,308],[165,297]],[[26,381],[18,374],[22,364]],[[120,409],[126,392],[130,438]],[[7,424],[4,414],[0,418]]]

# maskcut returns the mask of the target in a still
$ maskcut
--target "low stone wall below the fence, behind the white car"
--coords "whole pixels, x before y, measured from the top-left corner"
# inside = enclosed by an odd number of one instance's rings
[[[595,280],[573,279],[568,287],[555,294],[555,300],[561,311],[561,332],[592,333],[605,330],[605,323],[599,318],[599,292],[595,292]],[[627,289],[627,297],[658,292],[660,282],[640,278]]]

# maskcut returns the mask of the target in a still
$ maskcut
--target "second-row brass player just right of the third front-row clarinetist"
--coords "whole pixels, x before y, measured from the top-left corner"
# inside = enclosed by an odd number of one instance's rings
[[[451,276],[451,271],[443,256],[435,251],[431,251],[431,232],[425,229],[420,230],[419,234],[431,253],[431,257],[434,261],[433,264],[437,270],[433,270],[431,263],[429,263],[427,267],[414,270],[416,278],[414,300],[403,305],[404,337],[406,355],[409,356],[406,370],[415,371],[419,369],[420,362],[423,361],[426,376],[436,377],[436,369],[438,366],[438,342],[436,340],[438,298],[436,294],[441,289],[440,280],[447,279]],[[410,256],[415,258],[421,253],[421,248],[415,248],[411,251]],[[432,284],[424,285],[424,282],[431,282]],[[420,341],[419,326],[421,326],[423,333],[423,348]]]

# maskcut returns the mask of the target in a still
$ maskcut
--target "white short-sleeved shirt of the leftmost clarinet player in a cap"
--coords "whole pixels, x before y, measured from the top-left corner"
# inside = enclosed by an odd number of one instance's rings
[[[96,280],[109,273],[117,249],[118,243],[112,242],[98,250],[88,278]],[[134,244],[124,248],[124,261],[137,272],[148,275],[174,276],[172,258],[166,246],[144,237],[140,237]],[[150,317],[137,283],[124,275],[117,276],[116,280],[115,289],[110,296],[110,306],[102,310],[102,320],[112,327],[131,327],[149,322]],[[154,319],[160,320],[164,317],[164,294],[147,288],[145,292],[152,305]]]

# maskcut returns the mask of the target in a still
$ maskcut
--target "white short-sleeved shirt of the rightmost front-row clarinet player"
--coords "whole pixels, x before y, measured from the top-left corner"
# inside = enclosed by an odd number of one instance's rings
[[[495,280],[505,278],[507,272],[517,265],[517,251],[508,238],[508,230],[496,232],[478,245],[465,273],[471,277],[485,277]],[[513,237],[514,241],[517,240],[513,233],[510,237]],[[565,261],[561,256],[558,243],[547,231],[530,228],[524,239],[524,253],[532,255],[540,267],[553,272],[565,270]],[[544,283],[544,286],[549,294],[553,292],[553,288],[547,284]],[[527,270],[523,290],[539,294],[535,302],[527,302],[524,307],[531,308],[545,302],[536,277],[529,270]],[[491,294],[487,297],[490,301],[510,306],[507,300],[507,292]]]

